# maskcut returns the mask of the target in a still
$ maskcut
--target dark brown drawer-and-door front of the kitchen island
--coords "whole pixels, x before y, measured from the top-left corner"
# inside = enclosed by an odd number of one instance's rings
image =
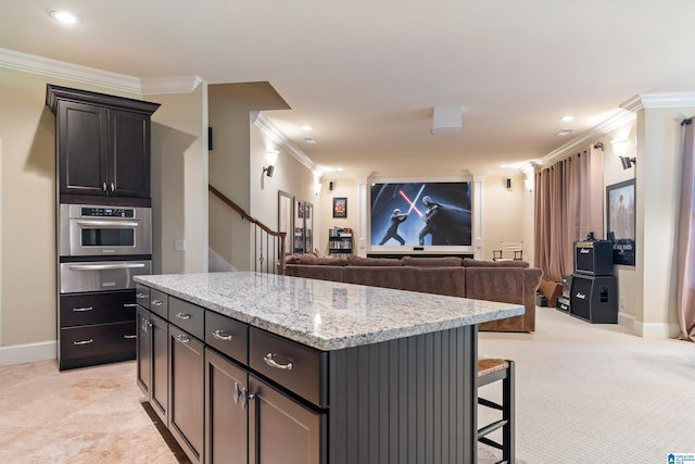
[[[188,459],[327,462],[326,353],[155,289],[138,285],[137,294],[138,385]],[[168,323],[155,308],[167,308]],[[278,358],[266,360],[268,353]],[[282,369],[278,363],[289,359],[294,367]]]

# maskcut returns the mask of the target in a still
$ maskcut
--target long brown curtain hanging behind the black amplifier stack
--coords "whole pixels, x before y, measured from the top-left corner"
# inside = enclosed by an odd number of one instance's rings
[[[591,147],[535,175],[534,264],[544,278],[572,274],[574,241],[604,235],[603,148]]]

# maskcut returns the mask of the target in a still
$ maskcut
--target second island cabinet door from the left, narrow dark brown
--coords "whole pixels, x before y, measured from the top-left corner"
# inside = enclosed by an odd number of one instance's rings
[[[166,321],[150,314],[150,336],[152,343],[152,378],[150,405],[168,426],[169,411],[169,331]]]

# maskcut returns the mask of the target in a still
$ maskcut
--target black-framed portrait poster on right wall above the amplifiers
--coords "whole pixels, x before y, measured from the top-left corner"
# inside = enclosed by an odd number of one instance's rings
[[[626,180],[606,187],[606,230],[612,242],[614,264],[634,266],[635,183]]]

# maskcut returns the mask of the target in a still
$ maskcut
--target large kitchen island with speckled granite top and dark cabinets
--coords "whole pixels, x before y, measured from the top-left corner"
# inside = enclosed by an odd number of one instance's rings
[[[136,281],[138,383],[197,462],[475,463],[477,325],[523,314],[271,274]],[[168,334],[156,401],[153,321]]]

